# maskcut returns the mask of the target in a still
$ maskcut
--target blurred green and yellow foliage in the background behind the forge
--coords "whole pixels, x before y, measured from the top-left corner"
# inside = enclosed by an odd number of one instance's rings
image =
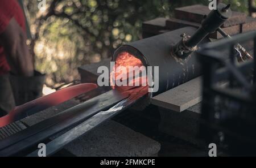
[[[223,0],[249,15],[250,0]],[[79,79],[77,67],[112,56],[114,49],[142,38],[142,23],[170,18],[176,7],[208,0],[23,0],[31,29],[27,41],[36,70],[46,73],[44,88]],[[253,1],[250,1],[254,3]],[[39,9],[40,8],[40,9]]]

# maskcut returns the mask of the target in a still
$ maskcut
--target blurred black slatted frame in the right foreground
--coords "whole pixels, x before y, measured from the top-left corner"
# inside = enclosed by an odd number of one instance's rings
[[[234,46],[250,40],[255,55],[256,31],[205,44],[197,51],[203,68],[200,137],[234,155],[255,155],[256,149],[256,72],[251,73],[256,61],[237,64],[234,56]],[[228,60],[220,52],[225,49]]]

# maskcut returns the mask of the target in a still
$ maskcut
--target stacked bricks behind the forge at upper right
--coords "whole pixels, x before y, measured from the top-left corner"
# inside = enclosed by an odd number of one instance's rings
[[[175,8],[174,18],[156,18],[143,23],[143,38],[159,35],[164,32],[173,31],[183,27],[200,27],[201,21],[205,15],[210,12],[208,6],[192,5]],[[246,16],[242,12],[233,11],[232,18],[221,26],[229,35],[237,35],[243,32],[256,30],[256,19]],[[222,38],[220,33],[214,32],[209,35],[210,38]]]

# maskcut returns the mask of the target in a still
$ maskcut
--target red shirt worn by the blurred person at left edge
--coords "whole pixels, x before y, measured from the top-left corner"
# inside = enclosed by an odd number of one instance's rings
[[[26,33],[26,24],[22,8],[16,0],[0,0],[0,34],[5,31],[10,20],[15,18]],[[6,60],[5,49],[0,45],[0,75],[7,74],[10,66]]]

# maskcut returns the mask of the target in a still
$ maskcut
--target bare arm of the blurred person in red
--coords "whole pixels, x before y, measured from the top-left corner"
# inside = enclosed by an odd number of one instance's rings
[[[11,72],[21,76],[34,75],[34,64],[26,45],[26,34],[14,18],[1,33],[0,43],[5,49]]]

